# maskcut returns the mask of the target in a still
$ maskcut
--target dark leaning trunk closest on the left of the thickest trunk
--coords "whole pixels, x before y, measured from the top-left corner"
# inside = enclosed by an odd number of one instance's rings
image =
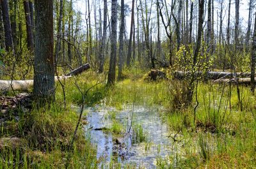
[[[29,2],[28,0],[23,1],[24,4],[24,11],[25,11],[25,17],[26,17],[26,30],[27,30],[27,43],[28,43],[28,49],[33,51],[34,50],[34,38],[33,38],[33,27],[31,24],[31,18],[29,15]]]

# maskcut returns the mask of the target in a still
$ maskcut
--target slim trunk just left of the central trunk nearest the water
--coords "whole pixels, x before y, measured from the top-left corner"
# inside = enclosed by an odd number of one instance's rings
[[[105,60],[105,46],[106,46],[106,36],[107,36],[107,20],[108,20],[108,1],[104,0],[104,17],[103,17],[103,36],[100,44],[100,65],[99,73],[102,73],[104,70],[104,60]]]

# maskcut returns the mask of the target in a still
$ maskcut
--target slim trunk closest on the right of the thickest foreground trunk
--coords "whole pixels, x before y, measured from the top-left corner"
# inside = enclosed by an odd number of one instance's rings
[[[59,53],[61,48],[61,24],[62,24],[62,18],[63,18],[63,0],[60,0],[60,15],[58,18],[58,30],[57,30],[57,42],[55,45],[54,50],[54,58],[55,58],[55,64],[58,64],[59,61]]]

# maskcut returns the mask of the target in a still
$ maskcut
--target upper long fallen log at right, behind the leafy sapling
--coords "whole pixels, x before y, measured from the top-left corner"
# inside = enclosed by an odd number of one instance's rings
[[[250,73],[232,73],[226,71],[207,71],[206,73],[202,71],[196,71],[196,77],[205,77],[210,80],[218,80],[220,78],[247,78],[250,77]],[[177,79],[184,79],[186,77],[191,76],[191,72],[189,71],[175,71],[173,73],[173,77]]]

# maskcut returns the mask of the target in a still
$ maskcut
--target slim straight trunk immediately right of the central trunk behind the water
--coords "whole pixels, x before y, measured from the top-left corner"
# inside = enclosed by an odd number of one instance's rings
[[[124,63],[124,0],[121,0],[121,26],[119,34],[119,53],[118,53],[118,78],[122,77]]]

